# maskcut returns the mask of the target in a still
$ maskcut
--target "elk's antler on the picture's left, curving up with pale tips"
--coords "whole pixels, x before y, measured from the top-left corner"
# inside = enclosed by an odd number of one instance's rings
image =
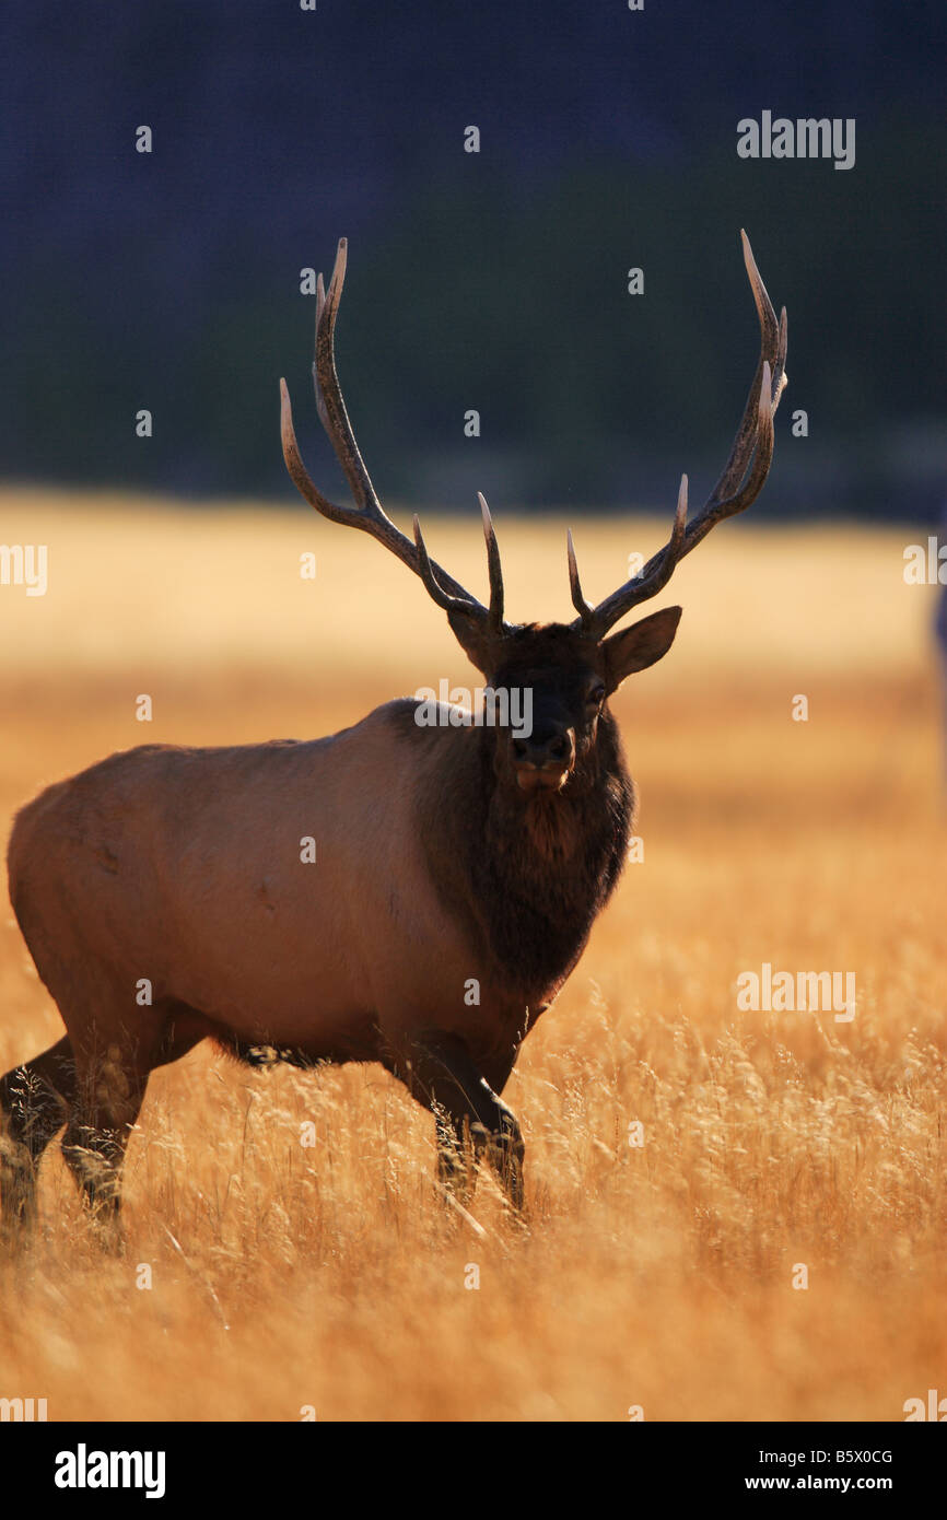
[[[280,380],[280,432],[283,438],[283,458],[286,459],[286,468],[289,470],[290,479],[299,494],[309,502],[310,506],[315,506],[316,512],[321,512],[322,517],[328,517],[333,523],[344,523],[348,527],[360,527],[363,532],[371,534],[372,538],[377,538],[380,544],[391,549],[391,552],[397,555],[409,570],[413,570],[413,573],[421,578],[438,606],[445,608],[448,613],[462,611],[483,623],[491,634],[499,635],[503,632],[503,573],[500,568],[500,550],[497,549],[497,538],[493,530],[489,508],[486,506],[483,497],[480,497],[480,511],[483,514],[483,535],[486,538],[486,561],[489,567],[488,608],[483,606],[482,602],[477,602],[476,596],[471,596],[470,591],[465,591],[461,582],[454,581],[447,570],[442,570],[439,564],[429,558],[416,517],[413,544],[398,527],[395,527],[378,502],[375,488],[371,483],[371,476],[368,474],[362,454],[359,453],[356,435],[353,433],[342,389],[339,386],[334,354],[336,313],[339,310],[342,286],[345,283],[347,251],[348,240],[340,237],[331,280],[328,281],[328,292],[322,283],[322,275],[319,275],[316,281],[316,357],[313,362],[313,386],[316,391],[316,410],[319,412],[322,426],[328,433],[328,441],[336,451],[336,458],[342,465],[345,479],[348,480],[348,488],[356,499],[356,505],[336,506],[334,502],[330,502],[328,497],[322,496],[318,486],[313,485],[309,471],[302,464],[299,445],[296,444],[289,389],[286,386],[286,380]]]

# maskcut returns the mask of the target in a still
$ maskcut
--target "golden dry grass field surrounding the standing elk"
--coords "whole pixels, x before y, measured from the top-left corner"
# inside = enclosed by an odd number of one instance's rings
[[[903,532],[749,515],[678,570],[655,603],[683,602],[678,641],[614,702],[645,862],[506,1090],[527,1231],[486,1176],[470,1221],[445,1213],[430,1119],[378,1067],[257,1075],[201,1047],[152,1078],[125,1259],[50,1149],[36,1242],[0,1263],[0,1395],[50,1420],[874,1421],[947,1394],[932,593],[903,584]],[[494,517],[509,616],[572,616],[565,523]],[[302,506],[20,492],[0,524],[49,544],[46,597],[0,588],[5,834],[112,749],[309,737],[476,679],[407,572]],[[572,526],[591,596],[667,527]],[[426,532],[483,587],[474,503]],[[854,971],[856,1017],[737,1011],[763,962]],[[6,906],[0,1070],[59,1032]]]

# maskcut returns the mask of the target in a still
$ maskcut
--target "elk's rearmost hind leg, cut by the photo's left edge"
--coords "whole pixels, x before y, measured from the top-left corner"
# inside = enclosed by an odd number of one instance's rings
[[[35,1221],[40,1157],[74,1097],[68,1035],[0,1078],[0,1233],[9,1240]]]

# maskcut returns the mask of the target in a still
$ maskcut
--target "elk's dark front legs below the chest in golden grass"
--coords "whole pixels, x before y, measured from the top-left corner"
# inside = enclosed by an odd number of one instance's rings
[[[461,1199],[473,1192],[464,1152],[493,1166],[514,1208],[523,1208],[523,1135],[515,1116],[451,1035],[427,1035],[397,1069],[407,1090],[435,1114],[438,1172]]]

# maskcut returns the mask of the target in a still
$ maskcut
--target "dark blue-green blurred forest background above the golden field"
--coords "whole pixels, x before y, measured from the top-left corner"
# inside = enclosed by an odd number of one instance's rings
[[[385,499],[670,511],[749,383],[743,225],[790,318],[766,512],[935,521],[944,30],[891,0],[9,6],[0,468],[286,499],[286,374],[342,491],[299,271],[347,234],[339,368]],[[854,167],[740,160],[763,109],[854,117]]]

